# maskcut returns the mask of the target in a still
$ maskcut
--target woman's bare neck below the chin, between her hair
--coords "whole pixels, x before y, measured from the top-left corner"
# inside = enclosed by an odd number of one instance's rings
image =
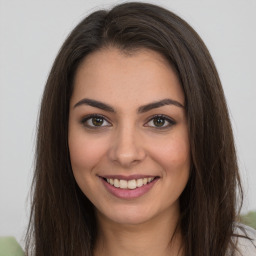
[[[182,256],[179,215],[163,213],[140,224],[114,223],[98,213],[99,232],[95,256]],[[167,216],[165,216],[167,215]]]

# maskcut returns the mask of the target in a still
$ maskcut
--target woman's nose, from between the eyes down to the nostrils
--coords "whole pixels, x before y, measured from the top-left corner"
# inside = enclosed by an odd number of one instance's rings
[[[124,168],[130,168],[146,157],[145,145],[136,128],[120,127],[113,137],[109,150],[111,161]]]

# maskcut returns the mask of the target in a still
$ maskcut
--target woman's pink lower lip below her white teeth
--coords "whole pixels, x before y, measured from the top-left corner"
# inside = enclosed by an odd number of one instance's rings
[[[143,185],[139,188],[135,189],[122,189],[122,188],[116,188],[112,185],[110,185],[107,181],[101,178],[105,188],[114,196],[121,198],[121,199],[135,199],[140,196],[143,196],[149,190],[155,185],[155,183],[158,181],[159,178],[155,178],[150,183]]]

